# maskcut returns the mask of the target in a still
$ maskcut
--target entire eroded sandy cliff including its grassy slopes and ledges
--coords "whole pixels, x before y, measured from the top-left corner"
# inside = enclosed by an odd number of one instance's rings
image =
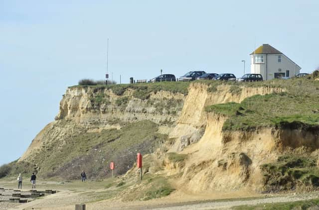
[[[114,161],[129,182],[142,152],[152,154],[144,173],[177,190],[315,189],[318,96],[318,82],[306,79],[70,87],[18,163],[44,177],[75,179],[84,169],[97,179]]]

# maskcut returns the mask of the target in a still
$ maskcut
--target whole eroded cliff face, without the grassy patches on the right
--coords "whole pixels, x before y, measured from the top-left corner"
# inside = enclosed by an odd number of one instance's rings
[[[95,177],[108,176],[107,166],[116,160],[118,174],[131,169],[129,173],[136,175],[137,151],[152,152],[148,157],[157,164],[149,164],[147,173],[174,176],[177,189],[262,191],[261,165],[276,162],[283,154],[318,153],[318,129],[225,131],[227,117],[206,112],[205,107],[281,92],[285,90],[238,86],[234,91],[229,85],[211,89],[191,83],[187,96],[160,91],[139,98],[131,89],[118,96],[106,88],[69,88],[56,121],[34,138],[20,161],[36,163],[46,176],[71,175],[72,179],[82,169]],[[168,153],[185,159],[174,162]]]

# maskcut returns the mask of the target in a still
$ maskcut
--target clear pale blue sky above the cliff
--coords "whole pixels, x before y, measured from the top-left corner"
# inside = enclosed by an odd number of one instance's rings
[[[319,66],[318,0],[0,0],[0,164],[19,158],[68,86],[104,79],[241,76],[271,44],[302,72]]]

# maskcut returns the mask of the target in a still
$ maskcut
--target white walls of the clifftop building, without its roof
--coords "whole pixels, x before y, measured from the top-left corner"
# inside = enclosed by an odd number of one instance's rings
[[[254,56],[263,56],[261,63],[254,62]],[[279,59],[280,56],[280,59]],[[261,61],[261,60],[259,60]],[[279,62],[281,61],[281,62]],[[301,68],[284,54],[257,54],[251,55],[250,71],[252,74],[261,74],[264,80],[274,79],[276,75],[294,77]],[[288,75],[289,73],[289,75]]]

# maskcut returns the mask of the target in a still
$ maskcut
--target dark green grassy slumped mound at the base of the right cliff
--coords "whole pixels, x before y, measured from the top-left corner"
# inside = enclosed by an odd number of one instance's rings
[[[274,163],[260,166],[266,192],[287,191],[296,187],[319,187],[316,158],[284,155]]]

